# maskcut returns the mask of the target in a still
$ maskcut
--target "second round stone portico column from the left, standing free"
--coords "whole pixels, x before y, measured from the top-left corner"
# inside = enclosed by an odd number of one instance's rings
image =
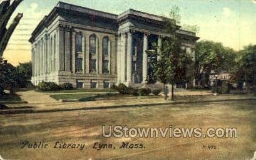
[[[146,83],[146,78],[148,76],[148,54],[146,51],[148,50],[148,34],[144,34],[143,38],[143,58],[142,58],[142,78],[143,83]]]

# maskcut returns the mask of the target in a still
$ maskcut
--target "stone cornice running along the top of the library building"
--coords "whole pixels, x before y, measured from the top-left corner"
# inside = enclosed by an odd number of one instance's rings
[[[42,32],[44,29],[47,29],[52,24],[52,22],[54,20],[56,20],[57,17],[61,17],[62,15],[66,15],[66,14],[70,14],[73,16],[79,16],[79,17],[83,16],[83,17],[88,17],[88,18],[90,18],[90,17],[97,18],[99,20],[102,19],[103,21],[108,20],[108,21],[112,21],[113,24],[116,24],[116,26],[120,26],[129,21],[138,21],[138,22],[142,22],[144,24],[148,24],[150,26],[160,27],[160,28],[163,27],[163,21],[166,18],[163,16],[148,14],[146,12],[136,11],[133,9],[129,9],[128,11],[123,12],[122,14],[117,16],[116,14],[110,14],[107,12],[89,9],[86,7],[76,6],[73,4],[67,4],[64,2],[59,2],[53,8],[53,10],[48,14],[48,16],[45,16],[42,19],[42,21],[39,22],[36,29],[34,29],[34,31],[32,32],[29,42],[33,43],[34,40],[36,40],[36,37],[40,34],[40,32]],[[59,20],[58,20],[59,22],[62,21],[61,19],[59,19]],[[59,27],[61,27],[61,26],[59,26]],[[91,27],[93,27],[93,26],[91,26]],[[180,26],[178,26],[178,28],[180,28]],[[136,28],[136,30],[137,30],[137,28]],[[139,30],[141,30],[141,29],[139,29]],[[110,31],[110,32],[117,32],[117,30]],[[156,31],[153,31],[153,32],[156,32]],[[179,29],[177,32],[178,32],[178,34],[184,35],[184,37],[187,37],[190,39],[192,38],[193,40],[199,39],[199,37],[196,37],[194,32],[183,31],[181,29]],[[158,35],[166,35],[165,33],[158,33],[158,32],[157,32],[157,34]]]

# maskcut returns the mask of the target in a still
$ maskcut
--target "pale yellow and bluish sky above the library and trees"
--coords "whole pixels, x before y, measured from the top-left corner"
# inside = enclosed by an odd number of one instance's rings
[[[1,0],[0,0],[1,1]],[[256,0],[63,0],[71,4],[120,14],[128,9],[168,16],[172,6],[180,7],[182,24],[197,25],[200,40],[222,42],[235,50],[256,44]],[[4,58],[13,65],[31,60],[31,33],[57,0],[24,0],[16,9],[23,12]],[[12,19],[13,19],[12,17]]]

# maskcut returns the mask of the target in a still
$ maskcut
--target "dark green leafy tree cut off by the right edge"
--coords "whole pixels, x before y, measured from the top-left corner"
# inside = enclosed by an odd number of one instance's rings
[[[232,80],[242,87],[243,82],[256,93],[256,45],[248,45],[238,52]]]

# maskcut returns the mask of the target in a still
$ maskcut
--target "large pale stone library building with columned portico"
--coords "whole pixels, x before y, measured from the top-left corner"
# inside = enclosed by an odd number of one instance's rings
[[[59,2],[33,31],[32,82],[108,88],[145,83],[146,50],[161,45],[163,17],[129,9],[120,15]],[[194,32],[177,31],[193,54]]]

